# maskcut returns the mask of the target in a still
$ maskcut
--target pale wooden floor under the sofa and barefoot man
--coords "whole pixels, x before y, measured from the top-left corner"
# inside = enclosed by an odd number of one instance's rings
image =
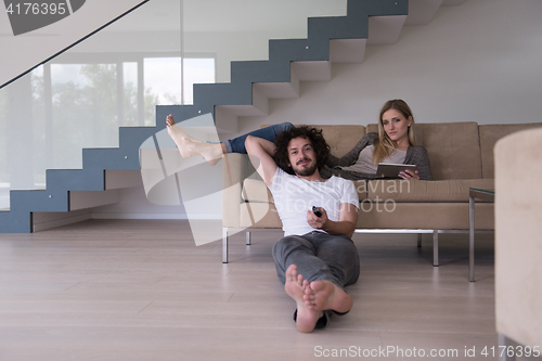
[[[195,246],[179,220],[0,234],[0,360],[496,360],[480,354],[496,345],[492,234],[477,235],[475,283],[466,234],[440,235],[438,268],[431,235],[418,248],[415,235],[356,234],[354,307],[312,334],[276,279],[280,236],[234,235],[222,265],[220,242]]]

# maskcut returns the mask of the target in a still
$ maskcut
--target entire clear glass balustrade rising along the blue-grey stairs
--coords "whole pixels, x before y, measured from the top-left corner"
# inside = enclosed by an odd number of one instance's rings
[[[267,60],[269,39],[307,37],[307,17],[346,0],[153,0],[0,89],[0,209],[10,190],[80,169],[82,149],[154,126],[156,105],[192,104],[194,83],[230,81],[232,61]]]

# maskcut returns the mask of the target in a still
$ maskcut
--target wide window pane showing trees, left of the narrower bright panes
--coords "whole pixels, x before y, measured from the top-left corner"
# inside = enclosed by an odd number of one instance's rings
[[[116,64],[51,64],[51,83],[52,168],[81,168],[82,147],[118,146]]]

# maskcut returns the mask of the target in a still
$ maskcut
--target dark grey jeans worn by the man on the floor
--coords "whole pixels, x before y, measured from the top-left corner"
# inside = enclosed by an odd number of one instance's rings
[[[288,235],[273,246],[276,275],[286,282],[291,265],[304,280],[330,281],[344,289],[354,284],[360,275],[360,257],[352,240],[346,235],[331,235],[313,231],[304,235]]]

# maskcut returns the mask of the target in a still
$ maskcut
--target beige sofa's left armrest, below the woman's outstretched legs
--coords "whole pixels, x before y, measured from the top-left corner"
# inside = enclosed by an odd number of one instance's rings
[[[254,169],[248,155],[231,153],[222,159],[222,227],[241,227],[241,204],[243,181]],[[257,175],[257,173],[256,173]],[[259,177],[259,176],[258,176]]]

